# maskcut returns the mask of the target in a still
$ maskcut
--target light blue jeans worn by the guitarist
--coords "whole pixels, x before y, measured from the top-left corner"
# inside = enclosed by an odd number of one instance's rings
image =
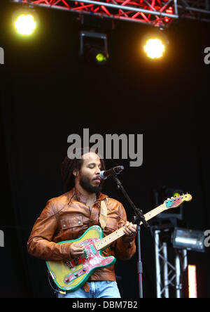
[[[80,287],[74,292],[58,294],[58,298],[121,298],[117,282],[109,280],[87,282],[90,291],[85,292],[84,287]]]

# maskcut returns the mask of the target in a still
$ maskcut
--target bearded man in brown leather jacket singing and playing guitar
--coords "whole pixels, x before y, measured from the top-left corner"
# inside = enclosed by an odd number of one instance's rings
[[[66,193],[48,200],[31,230],[27,242],[29,254],[48,261],[79,259],[84,256],[84,246],[76,242],[57,242],[76,240],[90,226],[99,225],[104,236],[123,226],[125,233],[104,250],[103,256],[127,260],[134,255],[137,226],[128,226],[125,209],[120,202],[101,193],[104,181],[99,174],[104,169],[104,160],[87,150],[82,150],[80,158],[64,159],[62,178]],[[58,297],[120,298],[114,266],[98,268],[83,287]]]

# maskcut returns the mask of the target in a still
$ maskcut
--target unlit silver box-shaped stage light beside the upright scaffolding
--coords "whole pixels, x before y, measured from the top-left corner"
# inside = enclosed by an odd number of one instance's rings
[[[176,249],[188,249],[204,252],[204,232],[187,228],[174,228],[172,244]]]

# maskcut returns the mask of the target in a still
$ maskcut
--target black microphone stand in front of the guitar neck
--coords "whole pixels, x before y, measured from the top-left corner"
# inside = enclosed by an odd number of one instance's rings
[[[142,210],[138,209],[130,197],[127,195],[125,189],[123,188],[122,183],[117,177],[117,174],[113,174],[113,180],[116,182],[118,189],[122,191],[123,195],[127,199],[127,201],[131,204],[132,208],[134,209],[134,213],[136,216],[133,216],[132,222],[137,224],[137,238],[138,238],[138,277],[139,277],[139,298],[143,298],[143,287],[142,287],[142,274],[143,274],[143,266],[141,262],[141,237],[140,237],[140,223],[142,222],[146,228],[149,228],[146,219],[144,218],[144,214]]]

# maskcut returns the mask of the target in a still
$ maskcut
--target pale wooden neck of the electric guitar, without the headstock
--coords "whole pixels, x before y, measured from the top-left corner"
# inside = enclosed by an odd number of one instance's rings
[[[151,212],[147,212],[144,214],[144,217],[146,221],[154,218],[154,216],[157,216],[160,214],[160,212],[163,212],[165,210],[165,205],[161,204],[157,208],[151,210]],[[141,226],[142,222],[140,223]],[[109,247],[112,242],[115,242],[118,240],[118,238],[121,238],[125,233],[123,232],[123,228],[118,228],[118,230],[114,231],[113,233],[107,235],[105,238],[102,238],[102,240],[99,240],[98,242],[95,242],[95,247],[97,250],[106,249],[106,247]]]

